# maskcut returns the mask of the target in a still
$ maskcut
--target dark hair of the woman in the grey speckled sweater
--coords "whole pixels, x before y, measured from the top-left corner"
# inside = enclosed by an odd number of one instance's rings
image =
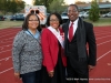
[[[34,13],[29,13],[26,18],[24,18],[24,21],[23,21],[23,24],[22,24],[22,30],[28,30],[28,21],[29,21],[29,18],[31,15],[36,15],[39,20],[39,25],[37,27],[38,31],[41,31],[41,25],[40,25],[40,19],[37,14]]]

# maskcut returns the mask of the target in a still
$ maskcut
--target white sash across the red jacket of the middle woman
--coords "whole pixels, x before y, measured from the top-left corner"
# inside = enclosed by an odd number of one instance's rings
[[[62,38],[62,35],[60,35],[60,30],[58,32],[52,27],[48,27],[48,29],[56,35],[56,38],[60,42],[61,46],[64,49],[64,39]]]

